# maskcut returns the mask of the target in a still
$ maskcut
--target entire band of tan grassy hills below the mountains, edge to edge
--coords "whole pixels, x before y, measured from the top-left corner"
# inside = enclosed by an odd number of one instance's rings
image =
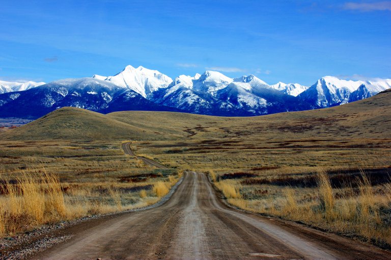
[[[178,140],[244,138],[391,138],[391,92],[320,110],[256,117],[123,111],[107,115],[62,108],[7,131],[9,140]]]

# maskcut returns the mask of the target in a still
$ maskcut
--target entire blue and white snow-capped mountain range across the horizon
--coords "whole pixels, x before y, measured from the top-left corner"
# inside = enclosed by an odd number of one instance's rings
[[[101,113],[124,110],[178,111],[254,116],[343,105],[391,88],[391,79],[347,81],[322,77],[312,86],[254,75],[230,78],[206,71],[171,79],[158,71],[127,66],[114,76],[44,82],[0,81],[0,117],[38,118],[61,107]]]

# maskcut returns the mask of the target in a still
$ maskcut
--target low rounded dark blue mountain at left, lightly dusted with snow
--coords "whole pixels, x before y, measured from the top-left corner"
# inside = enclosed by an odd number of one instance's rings
[[[97,78],[65,79],[0,94],[1,117],[40,117],[61,107],[107,113],[120,110],[178,111],[157,105],[131,89]]]

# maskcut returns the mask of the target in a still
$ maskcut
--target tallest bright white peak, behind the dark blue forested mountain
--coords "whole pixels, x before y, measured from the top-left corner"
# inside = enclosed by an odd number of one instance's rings
[[[134,68],[130,65],[126,66],[122,72],[115,76],[94,75],[93,78],[109,81],[117,86],[131,89],[144,96],[144,98],[151,96],[154,91],[160,88],[166,88],[173,81],[169,76],[158,71],[149,70],[142,66]]]

